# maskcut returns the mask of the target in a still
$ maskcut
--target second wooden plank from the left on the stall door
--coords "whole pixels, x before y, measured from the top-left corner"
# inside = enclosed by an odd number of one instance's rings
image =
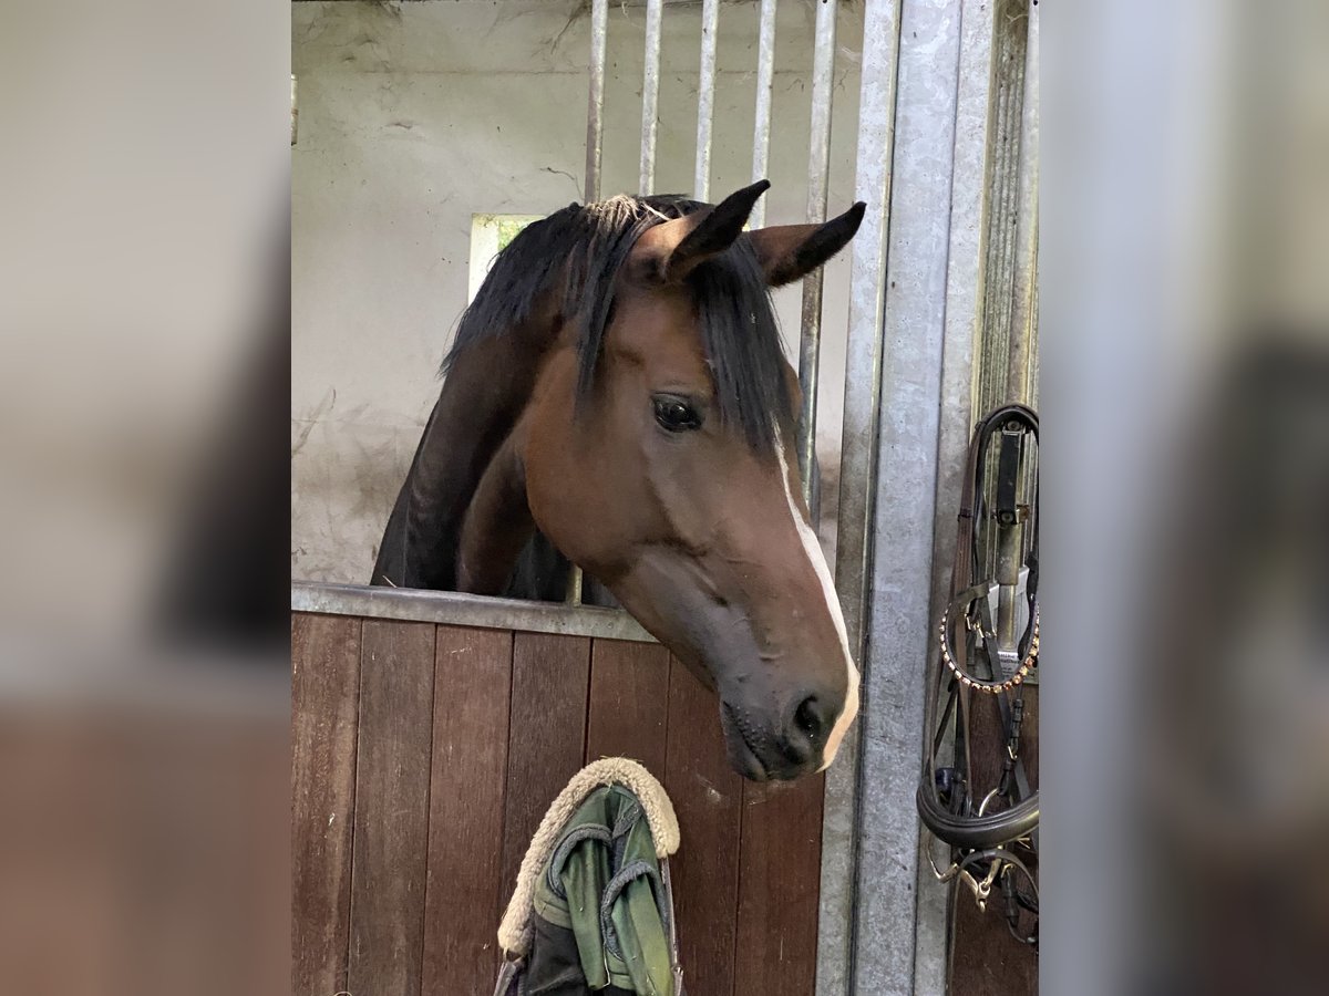
[[[435,629],[364,622],[346,985],[356,996],[420,993]]]

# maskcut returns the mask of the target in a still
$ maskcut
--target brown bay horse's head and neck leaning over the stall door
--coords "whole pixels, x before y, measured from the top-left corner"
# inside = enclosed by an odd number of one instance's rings
[[[372,576],[558,600],[579,566],[716,691],[754,781],[827,768],[859,709],[771,288],[848,244],[864,205],[744,231],[768,187],[524,228],[462,313]]]

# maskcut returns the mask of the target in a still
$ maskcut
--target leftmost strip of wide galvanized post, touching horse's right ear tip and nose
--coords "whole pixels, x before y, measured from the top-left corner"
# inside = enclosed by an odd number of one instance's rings
[[[863,23],[856,199],[868,210],[855,236],[845,356],[844,437],[840,452],[840,531],[836,591],[849,647],[863,664],[872,572],[873,494],[885,307],[886,223],[894,147],[896,62],[902,0],[869,0]],[[864,703],[867,705],[867,703]],[[827,770],[821,823],[821,892],[817,923],[817,996],[847,996],[853,984],[853,915],[857,908],[859,760],[864,713]],[[910,770],[913,765],[909,765]]]

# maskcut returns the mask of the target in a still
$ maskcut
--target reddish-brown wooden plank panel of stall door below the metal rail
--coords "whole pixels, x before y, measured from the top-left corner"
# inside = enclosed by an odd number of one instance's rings
[[[743,782],[662,647],[306,614],[291,647],[296,996],[488,996],[532,834],[609,756],[678,811],[690,996],[812,992],[823,780]]]

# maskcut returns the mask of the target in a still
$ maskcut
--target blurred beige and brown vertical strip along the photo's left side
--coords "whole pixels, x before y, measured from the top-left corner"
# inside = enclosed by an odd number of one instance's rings
[[[288,988],[290,12],[0,5],[0,989]]]

